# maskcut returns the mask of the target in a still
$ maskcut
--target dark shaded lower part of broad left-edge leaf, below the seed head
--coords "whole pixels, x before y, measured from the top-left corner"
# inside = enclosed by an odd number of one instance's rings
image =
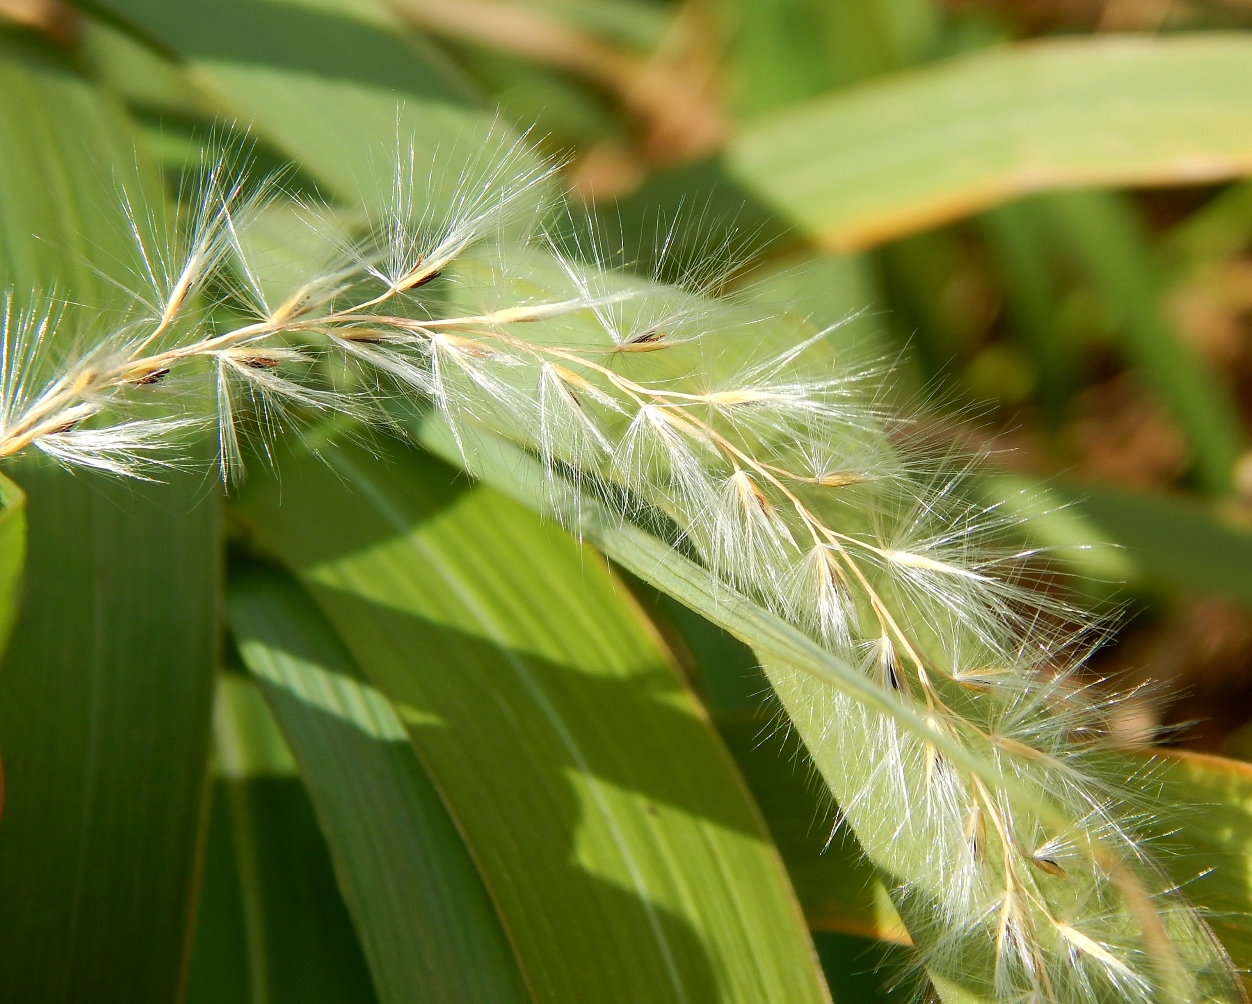
[[[217,507],[43,464],[0,668],[0,996],[170,1000],[188,948],[217,640]]]

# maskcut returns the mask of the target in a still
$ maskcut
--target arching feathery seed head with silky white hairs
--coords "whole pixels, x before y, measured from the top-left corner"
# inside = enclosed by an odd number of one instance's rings
[[[771,667],[944,995],[1242,999],[1137,835],[1143,779],[1108,756],[1117,700],[1083,672],[1099,618],[970,501],[967,458],[920,444],[890,372],[716,295],[716,262],[662,284],[553,237],[551,169],[521,150],[470,165],[447,212],[428,183],[401,158],[368,220],[304,204],[304,264],[277,278],[272,183],[209,160],[174,219],[130,205],[125,317],[50,358],[55,299],[5,300],[0,456],[159,478],[212,424],[230,481],[248,437],[324,413],[508,437],[873,687]]]

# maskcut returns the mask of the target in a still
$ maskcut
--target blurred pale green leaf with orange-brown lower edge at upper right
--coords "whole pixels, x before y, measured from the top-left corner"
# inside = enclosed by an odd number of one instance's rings
[[[1249,95],[1242,34],[1042,41],[780,110],[729,159],[821,244],[849,250],[1032,192],[1246,174]]]

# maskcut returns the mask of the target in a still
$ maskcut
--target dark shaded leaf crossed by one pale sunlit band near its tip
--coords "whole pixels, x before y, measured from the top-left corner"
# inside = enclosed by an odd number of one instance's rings
[[[391,702],[288,577],[232,577],[229,618],[299,761],[383,1004],[523,1001],[495,908]]]

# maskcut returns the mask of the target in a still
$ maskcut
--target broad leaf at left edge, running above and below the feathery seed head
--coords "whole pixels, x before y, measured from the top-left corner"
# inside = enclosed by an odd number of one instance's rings
[[[159,202],[151,177],[114,105],[55,61],[0,51],[0,289],[18,304],[54,285],[109,303],[105,277],[138,264],[116,188]],[[68,310],[55,349],[95,320]],[[183,979],[203,806],[214,493],[183,476],[10,473],[30,542],[0,667],[0,998],[165,1004]]]

